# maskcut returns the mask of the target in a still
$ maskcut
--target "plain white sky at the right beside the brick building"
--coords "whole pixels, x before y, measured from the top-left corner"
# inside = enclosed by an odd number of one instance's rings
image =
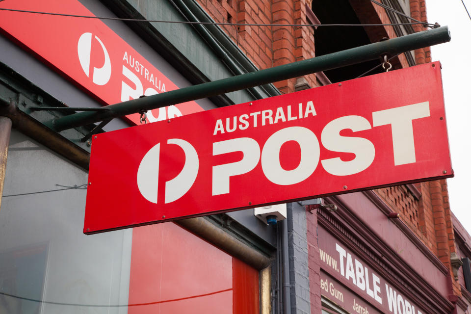
[[[471,0],[464,0],[468,11]],[[426,0],[428,22],[447,25],[449,43],[432,47],[432,60],[442,62],[446,121],[455,177],[448,179],[450,207],[461,224],[471,233],[471,211],[468,197],[471,189],[471,20],[461,0]],[[470,11],[471,13],[471,11]],[[470,195],[468,195],[470,194]]]

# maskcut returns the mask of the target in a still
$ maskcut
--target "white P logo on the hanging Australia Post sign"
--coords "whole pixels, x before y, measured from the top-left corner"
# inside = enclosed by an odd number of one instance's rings
[[[182,171],[172,180],[165,182],[165,204],[173,202],[185,195],[198,175],[199,159],[195,148],[187,141],[172,138],[167,144],[180,146],[185,153],[185,164]],[[146,200],[157,204],[158,167],[160,159],[160,143],[152,147],[142,158],[137,170],[137,187]]]

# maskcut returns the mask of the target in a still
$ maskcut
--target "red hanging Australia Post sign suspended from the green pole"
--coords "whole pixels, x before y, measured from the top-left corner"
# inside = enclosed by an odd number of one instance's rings
[[[97,134],[83,231],[452,176],[428,63]]]

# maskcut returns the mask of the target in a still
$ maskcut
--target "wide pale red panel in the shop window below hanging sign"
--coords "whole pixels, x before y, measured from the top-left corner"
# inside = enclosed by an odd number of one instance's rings
[[[135,228],[128,313],[233,313],[232,264],[173,223]]]

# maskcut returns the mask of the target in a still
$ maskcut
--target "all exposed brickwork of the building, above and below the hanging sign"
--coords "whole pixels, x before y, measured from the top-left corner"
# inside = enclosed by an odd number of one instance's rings
[[[259,69],[314,57],[314,28],[288,26],[313,22],[308,20],[306,14],[306,6],[311,7],[311,0],[197,1],[216,22],[282,24],[282,26],[221,26]],[[350,0],[350,4],[363,24],[391,23],[385,9],[370,1]],[[411,16],[425,22],[425,0],[410,0],[410,6]],[[421,25],[413,27],[415,31],[424,30]],[[392,26],[365,29],[371,42],[377,42],[383,37],[396,37]],[[415,57],[417,64],[430,62],[430,48],[416,50]],[[401,54],[395,68],[406,66],[408,63]],[[311,87],[317,86],[314,74],[278,81],[274,85],[282,93],[291,93],[295,91],[296,83],[301,80]],[[405,186],[378,189],[376,193],[393,211],[400,213],[400,219],[450,268],[451,274],[450,253],[455,251],[455,246],[446,181],[418,183],[415,186],[421,193],[419,199]],[[308,230],[316,230],[315,214],[308,214],[307,223]],[[308,235],[309,267],[316,276],[311,278],[311,285],[317,285],[319,282],[315,237],[316,235]],[[459,284],[453,280],[452,286],[454,293],[461,295]],[[318,313],[319,309],[315,307],[320,305],[320,294],[315,287],[311,287],[311,302],[312,313]]]

